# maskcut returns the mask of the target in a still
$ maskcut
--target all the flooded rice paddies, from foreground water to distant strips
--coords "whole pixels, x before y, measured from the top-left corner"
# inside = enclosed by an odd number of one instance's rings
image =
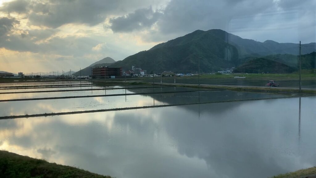
[[[157,107],[0,119],[0,149],[118,178],[266,178],[316,165],[316,97],[174,86],[84,84],[100,90],[0,90],[38,91],[0,94],[0,100],[89,96],[1,101],[0,118]],[[13,86],[18,85],[26,86]],[[38,85],[44,83],[30,86]],[[118,96],[97,96],[113,94]]]

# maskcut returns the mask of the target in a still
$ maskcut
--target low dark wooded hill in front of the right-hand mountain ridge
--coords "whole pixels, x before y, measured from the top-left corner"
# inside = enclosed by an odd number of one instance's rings
[[[297,68],[265,58],[256,58],[234,69],[235,73],[292,73]]]

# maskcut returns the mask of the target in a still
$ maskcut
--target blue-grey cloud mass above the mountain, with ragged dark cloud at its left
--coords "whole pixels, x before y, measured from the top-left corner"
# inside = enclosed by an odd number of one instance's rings
[[[295,0],[171,0],[160,15],[147,27],[140,26],[145,15],[134,13],[110,20],[114,32],[155,29],[142,35],[144,41],[167,41],[197,29],[223,29],[241,37],[265,41],[314,41],[315,1],[297,3]],[[142,9],[139,9],[142,10]],[[155,22],[153,22],[155,21]],[[279,35],[278,35],[279,34]],[[281,34],[281,35],[280,35]],[[289,38],[288,34],[295,34]],[[308,40],[309,39],[309,40]],[[311,40],[312,39],[312,40]]]

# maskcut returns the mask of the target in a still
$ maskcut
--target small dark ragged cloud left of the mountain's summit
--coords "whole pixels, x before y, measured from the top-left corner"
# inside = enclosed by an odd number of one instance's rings
[[[110,19],[111,29],[114,32],[130,32],[143,28],[150,28],[162,15],[160,12],[154,12],[152,8],[139,9],[126,16]]]

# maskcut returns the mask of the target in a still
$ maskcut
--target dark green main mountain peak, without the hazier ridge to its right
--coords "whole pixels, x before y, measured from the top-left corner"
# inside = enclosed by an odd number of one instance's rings
[[[158,44],[148,51],[128,56],[111,67],[123,67],[126,70],[133,65],[142,67],[148,73],[150,71],[196,73],[198,61],[200,61],[201,72],[218,71],[221,68],[236,66],[239,63],[238,51],[233,45],[225,42],[222,36],[197,30]]]

